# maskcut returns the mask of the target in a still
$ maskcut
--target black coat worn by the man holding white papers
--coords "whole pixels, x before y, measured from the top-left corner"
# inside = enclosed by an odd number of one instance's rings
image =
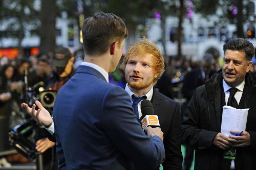
[[[182,122],[182,137],[196,149],[195,170],[220,169],[223,150],[215,147],[212,140],[221,130],[222,70],[196,89]],[[246,131],[251,145],[237,148],[236,169],[256,169],[256,77],[249,72],[245,77],[245,108],[248,112]],[[239,165],[241,168],[239,168]]]

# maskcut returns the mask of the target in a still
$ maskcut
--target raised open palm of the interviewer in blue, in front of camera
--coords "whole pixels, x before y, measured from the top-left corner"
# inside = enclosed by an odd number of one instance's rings
[[[37,111],[35,110],[35,105],[38,107]],[[42,104],[39,101],[35,101],[32,108],[26,103],[23,103],[23,106],[25,107],[27,113],[31,115],[36,122],[46,127],[52,124],[53,120],[50,113],[46,110],[46,108],[42,107]]]

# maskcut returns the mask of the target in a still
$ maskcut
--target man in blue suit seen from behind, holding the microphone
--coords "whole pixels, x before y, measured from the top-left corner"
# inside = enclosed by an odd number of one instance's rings
[[[82,34],[85,62],[54,103],[59,168],[119,170],[134,169],[134,163],[158,167],[165,157],[163,132],[150,127],[145,135],[127,92],[108,83],[127,36],[124,22],[114,14],[98,13],[84,20]]]

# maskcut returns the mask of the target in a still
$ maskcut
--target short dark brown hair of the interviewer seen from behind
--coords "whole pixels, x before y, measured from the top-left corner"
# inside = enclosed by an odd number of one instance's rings
[[[84,53],[88,55],[104,54],[111,43],[121,41],[128,35],[123,20],[112,13],[96,13],[84,19],[82,38]]]

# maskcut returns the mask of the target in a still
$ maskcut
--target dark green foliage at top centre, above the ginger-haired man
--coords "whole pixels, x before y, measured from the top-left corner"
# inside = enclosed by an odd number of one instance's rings
[[[136,27],[140,26],[140,36],[146,36],[147,29],[146,21],[151,18],[156,18],[156,13],[159,14],[160,27],[162,28],[161,38],[159,41],[163,46],[163,53],[166,54],[166,28],[165,22],[167,16],[177,16],[178,8],[177,1],[174,0],[129,0],[129,1],[118,1],[118,0],[105,0],[100,4],[100,8],[104,12],[112,12],[123,18],[125,21],[130,37],[133,37],[136,32]],[[130,38],[128,37],[128,38]],[[133,41],[131,41],[133,43]]]

